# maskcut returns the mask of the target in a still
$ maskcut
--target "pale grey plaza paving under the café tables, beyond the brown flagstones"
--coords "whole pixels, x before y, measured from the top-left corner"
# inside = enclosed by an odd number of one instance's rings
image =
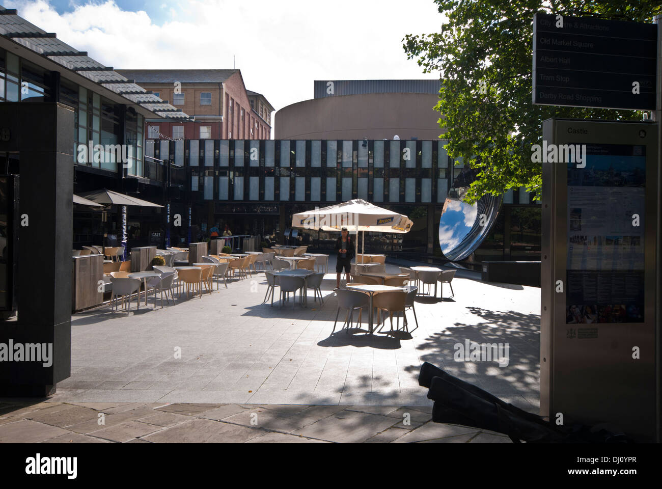
[[[391,332],[387,320],[368,335],[366,317],[348,334],[340,315],[333,331],[334,287],[327,274],[324,305],[310,293],[306,308],[293,300],[271,307],[261,273],[163,309],[150,298],[139,311],[134,300],[130,315],[108,306],[73,315],[71,377],[50,401],[430,406],[418,386],[428,361],[538,412],[539,288],[456,277],[453,299],[448,286],[443,300],[416,299],[417,329],[408,311],[410,333]],[[508,365],[456,362],[455,345],[466,340],[508,343]]]

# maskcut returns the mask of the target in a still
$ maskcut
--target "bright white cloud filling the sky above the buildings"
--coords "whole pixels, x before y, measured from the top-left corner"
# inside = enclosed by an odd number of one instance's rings
[[[313,80],[435,78],[406,59],[402,38],[437,32],[443,20],[432,0],[183,0],[177,11],[164,4],[173,18],[162,25],[113,1],[64,15],[44,0],[11,3],[116,69],[232,68],[236,56],[246,87],[275,109],[312,98]]]

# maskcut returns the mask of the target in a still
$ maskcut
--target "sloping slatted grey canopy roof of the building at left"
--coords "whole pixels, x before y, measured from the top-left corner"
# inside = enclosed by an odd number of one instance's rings
[[[78,51],[59,40],[53,32],[29,23],[20,17],[15,9],[0,7],[0,35],[21,44],[24,48],[47,58],[70,70],[73,76],[82,76],[128,101],[164,119],[193,119],[181,109],[163,101],[151,91],[147,91],[135,80],[129,80],[115,72],[112,67],[93,60],[85,51]]]

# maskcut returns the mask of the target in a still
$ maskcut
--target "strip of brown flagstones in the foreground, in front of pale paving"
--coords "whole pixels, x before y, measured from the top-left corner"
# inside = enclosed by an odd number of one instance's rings
[[[0,403],[0,443],[511,443],[431,407]],[[101,420],[103,419],[103,424]]]

